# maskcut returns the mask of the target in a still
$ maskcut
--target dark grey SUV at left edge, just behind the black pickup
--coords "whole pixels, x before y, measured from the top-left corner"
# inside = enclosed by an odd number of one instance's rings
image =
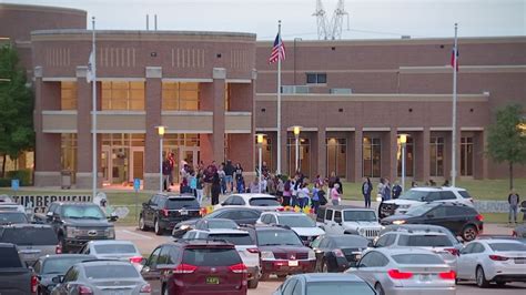
[[[62,253],[59,240],[49,225],[12,224],[0,227],[0,243],[13,243],[28,266],[44,255]]]

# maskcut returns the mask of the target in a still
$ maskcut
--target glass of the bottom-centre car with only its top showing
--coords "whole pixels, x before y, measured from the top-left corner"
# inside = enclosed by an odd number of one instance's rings
[[[325,294],[363,294],[374,295],[374,291],[365,283],[361,282],[315,282],[306,284],[306,294],[325,295]]]

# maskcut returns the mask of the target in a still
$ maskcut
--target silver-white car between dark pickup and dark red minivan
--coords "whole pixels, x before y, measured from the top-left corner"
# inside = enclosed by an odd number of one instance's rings
[[[143,257],[139,248],[130,241],[90,241],[80,251],[98,260],[128,261],[138,271],[142,268]]]

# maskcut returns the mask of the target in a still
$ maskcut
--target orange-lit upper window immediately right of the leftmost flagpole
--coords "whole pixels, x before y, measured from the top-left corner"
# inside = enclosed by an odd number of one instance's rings
[[[103,111],[144,111],[144,82],[102,82]]]

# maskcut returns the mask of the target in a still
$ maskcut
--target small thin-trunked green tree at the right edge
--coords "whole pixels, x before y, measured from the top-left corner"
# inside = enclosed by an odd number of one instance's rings
[[[513,104],[497,110],[495,123],[488,129],[487,154],[497,163],[507,162],[509,189],[513,189],[513,167],[526,163],[526,136],[519,124],[523,106]]]

